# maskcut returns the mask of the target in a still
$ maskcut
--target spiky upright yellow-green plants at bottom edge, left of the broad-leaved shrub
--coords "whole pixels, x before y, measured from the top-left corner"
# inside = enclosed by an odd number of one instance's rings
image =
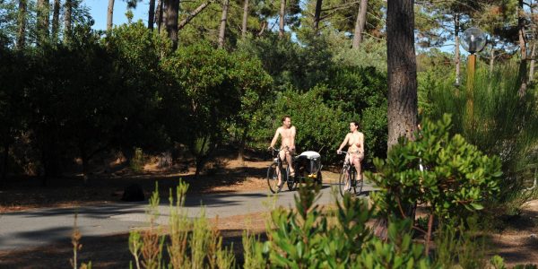
[[[187,217],[183,208],[188,185],[179,180],[176,192],[169,190],[169,240],[155,226],[159,216],[159,194],[153,192],[147,215],[150,229],[131,231],[129,249],[136,268],[233,268],[235,256],[231,249],[222,247],[219,230],[205,218],[204,211],[195,220]],[[176,197],[174,199],[174,196]],[[168,250],[169,262],[163,260],[163,249]],[[132,265],[132,264],[131,264]]]

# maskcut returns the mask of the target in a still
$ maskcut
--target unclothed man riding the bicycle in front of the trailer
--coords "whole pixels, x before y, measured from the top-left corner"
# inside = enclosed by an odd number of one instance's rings
[[[293,170],[292,158],[291,155],[295,152],[295,126],[291,126],[291,117],[284,116],[282,117],[282,126],[276,129],[274,133],[273,140],[269,148],[273,148],[274,144],[278,140],[278,136],[282,136],[281,147],[279,152],[279,158],[283,161],[288,161],[288,167],[290,168],[290,176],[295,175],[295,170]],[[278,186],[282,185],[282,177],[280,171],[277,171],[278,174]]]

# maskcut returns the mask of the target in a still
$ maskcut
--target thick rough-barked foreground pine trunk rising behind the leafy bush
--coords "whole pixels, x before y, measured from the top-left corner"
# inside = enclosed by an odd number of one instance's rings
[[[398,138],[413,139],[418,124],[417,65],[414,49],[414,0],[389,0],[386,7],[388,70],[388,151]],[[405,213],[414,219],[414,204]],[[387,216],[377,219],[374,233],[386,239]]]

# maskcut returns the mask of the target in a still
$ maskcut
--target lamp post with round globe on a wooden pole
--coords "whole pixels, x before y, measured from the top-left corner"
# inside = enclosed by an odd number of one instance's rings
[[[476,52],[482,51],[486,46],[487,38],[486,34],[476,28],[471,27],[467,30],[464,30],[462,36],[462,47],[469,52],[469,57],[467,58],[467,124],[468,127],[473,126],[473,86],[474,86],[474,69],[476,65]]]

